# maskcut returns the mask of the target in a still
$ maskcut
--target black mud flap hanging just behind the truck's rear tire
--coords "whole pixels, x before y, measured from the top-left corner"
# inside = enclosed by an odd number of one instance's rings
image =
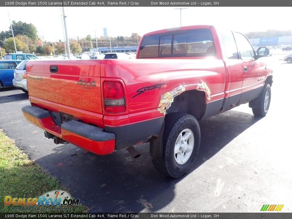
[[[151,139],[150,141],[150,157],[152,160],[157,160],[160,162],[162,160],[163,152],[163,132],[164,132],[164,121],[160,130],[158,137]]]

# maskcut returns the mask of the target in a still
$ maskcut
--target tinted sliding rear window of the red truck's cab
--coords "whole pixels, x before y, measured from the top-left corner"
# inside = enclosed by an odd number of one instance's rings
[[[215,56],[210,29],[201,28],[145,36],[138,58]]]

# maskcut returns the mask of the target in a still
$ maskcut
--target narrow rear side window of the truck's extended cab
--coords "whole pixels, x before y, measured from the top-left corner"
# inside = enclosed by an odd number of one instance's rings
[[[238,51],[234,36],[230,30],[222,32],[225,52],[228,59],[238,59]]]

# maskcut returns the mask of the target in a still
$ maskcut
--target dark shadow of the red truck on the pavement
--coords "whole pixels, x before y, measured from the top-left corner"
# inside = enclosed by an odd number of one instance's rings
[[[141,152],[136,159],[126,150],[98,156],[83,153],[76,147],[74,153],[67,153],[69,145],[59,144],[54,148],[55,153],[36,162],[67,186],[75,198],[91,209],[90,212],[159,211],[175,199],[178,182],[193,177],[196,168],[258,120],[260,118],[251,114],[232,110],[200,122],[198,157],[193,168],[179,179],[161,176],[156,171],[150,159],[149,144],[136,146]],[[193,180],[200,178],[194,177]],[[185,189],[191,194],[192,189],[188,186],[186,184]],[[175,209],[178,211],[185,209]]]

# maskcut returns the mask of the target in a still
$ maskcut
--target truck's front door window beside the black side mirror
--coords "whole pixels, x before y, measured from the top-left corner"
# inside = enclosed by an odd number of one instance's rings
[[[234,37],[241,59],[254,59],[255,52],[252,45],[249,43],[249,40],[246,39],[241,33],[235,32]]]

